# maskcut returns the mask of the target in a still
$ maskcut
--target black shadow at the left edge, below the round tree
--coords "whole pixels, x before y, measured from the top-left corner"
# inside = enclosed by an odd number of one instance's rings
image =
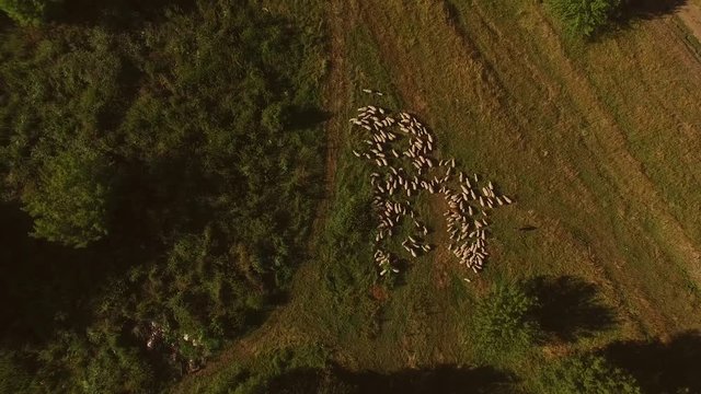
[[[0,347],[42,343],[59,328],[88,323],[89,297],[112,266],[94,248],[74,250],[34,239],[18,205],[0,204]]]

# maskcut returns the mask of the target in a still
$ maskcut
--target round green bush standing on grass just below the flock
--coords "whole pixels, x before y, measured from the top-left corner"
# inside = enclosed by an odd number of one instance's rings
[[[537,305],[519,285],[497,285],[478,304],[473,331],[475,348],[481,357],[522,351],[539,336],[539,325],[530,317]]]

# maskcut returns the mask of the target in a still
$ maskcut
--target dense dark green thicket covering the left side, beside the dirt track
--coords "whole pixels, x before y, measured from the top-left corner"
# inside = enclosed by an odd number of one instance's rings
[[[44,311],[76,325],[47,327],[22,352],[41,391],[161,390],[272,308],[320,193],[322,38],[318,24],[226,0],[137,31],[3,33],[4,198],[33,218],[33,236],[89,263],[76,274],[85,302]],[[62,262],[30,275],[42,264]],[[35,286],[87,297],[60,280]]]

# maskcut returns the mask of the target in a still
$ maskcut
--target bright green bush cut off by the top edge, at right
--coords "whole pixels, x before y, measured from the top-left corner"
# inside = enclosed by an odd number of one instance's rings
[[[591,37],[609,23],[621,0],[550,0],[550,5],[571,34]]]

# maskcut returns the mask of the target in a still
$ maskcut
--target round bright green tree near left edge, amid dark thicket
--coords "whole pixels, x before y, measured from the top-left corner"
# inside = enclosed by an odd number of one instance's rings
[[[48,159],[36,185],[23,195],[34,218],[33,236],[84,247],[107,234],[105,159],[89,149],[70,149]]]

